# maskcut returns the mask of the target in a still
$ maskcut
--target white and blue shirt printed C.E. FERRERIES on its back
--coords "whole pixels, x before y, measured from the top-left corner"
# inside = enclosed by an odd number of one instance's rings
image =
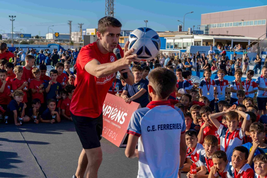
[[[183,112],[170,101],[152,101],[137,109],[127,133],[139,137],[138,177],[173,177],[179,171],[180,137],[186,130]]]

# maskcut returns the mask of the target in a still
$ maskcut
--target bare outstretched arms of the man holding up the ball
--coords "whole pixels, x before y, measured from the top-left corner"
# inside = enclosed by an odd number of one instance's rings
[[[117,60],[115,62],[111,63],[105,63],[105,64],[100,64],[100,62],[96,59],[93,59],[92,61],[89,61],[85,65],[85,70],[93,75],[96,76],[97,78],[101,77],[106,77],[109,76],[117,71],[121,71],[120,73],[125,73],[127,72],[128,78],[125,79],[125,82],[132,85],[134,83],[134,77],[132,72],[130,72],[128,65],[131,64],[131,62],[140,62],[140,60],[134,59],[134,57],[137,57],[136,54],[131,55],[131,52],[133,52],[133,49],[128,51],[128,45],[129,42],[127,41],[125,43],[124,47],[124,57],[121,58],[120,60]]]

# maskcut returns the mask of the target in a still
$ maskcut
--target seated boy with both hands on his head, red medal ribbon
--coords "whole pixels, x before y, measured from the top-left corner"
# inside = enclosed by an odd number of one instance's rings
[[[217,118],[226,114],[227,127],[222,125]],[[238,114],[240,114],[244,121],[240,129],[238,129]],[[229,109],[223,112],[214,113],[209,115],[210,121],[218,128],[217,133],[221,140],[221,150],[226,152],[228,161],[231,160],[233,149],[239,146],[243,142],[243,137],[246,132],[249,115],[236,109],[236,105],[231,106]]]

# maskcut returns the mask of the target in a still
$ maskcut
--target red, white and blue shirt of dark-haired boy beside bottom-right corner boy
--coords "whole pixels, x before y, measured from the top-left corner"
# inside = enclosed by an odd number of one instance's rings
[[[227,178],[254,178],[254,171],[249,164],[245,164],[238,172],[230,162],[229,169],[227,171]]]

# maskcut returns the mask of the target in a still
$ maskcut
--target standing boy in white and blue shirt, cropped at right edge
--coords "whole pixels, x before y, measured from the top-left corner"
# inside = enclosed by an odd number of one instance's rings
[[[267,102],[267,67],[263,66],[261,69],[262,75],[257,78],[256,84],[258,84],[257,103],[258,114],[267,114],[266,102]]]

